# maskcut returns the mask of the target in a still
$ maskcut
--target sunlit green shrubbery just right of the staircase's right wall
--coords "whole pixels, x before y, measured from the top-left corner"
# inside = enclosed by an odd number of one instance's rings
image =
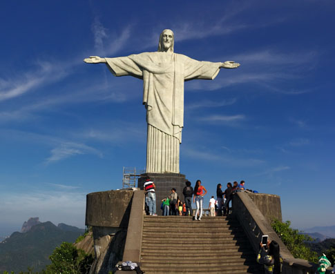
[[[280,222],[274,219],[271,222],[272,228],[282,239],[283,243],[294,255],[295,258],[305,259],[309,262],[318,262],[318,255],[311,251],[307,246],[307,242],[312,241],[312,237],[299,233],[298,229],[290,228],[291,222]]]

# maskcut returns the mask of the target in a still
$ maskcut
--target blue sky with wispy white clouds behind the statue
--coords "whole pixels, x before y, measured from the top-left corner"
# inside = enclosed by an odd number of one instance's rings
[[[84,227],[86,194],[144,168],[142,81],[90,55],[157,50],[233,60],[185,84],[180,170],[280,195],[283,219],[335,225],[335,1],[4,1],[0,35],[0,235],[29,217]]]

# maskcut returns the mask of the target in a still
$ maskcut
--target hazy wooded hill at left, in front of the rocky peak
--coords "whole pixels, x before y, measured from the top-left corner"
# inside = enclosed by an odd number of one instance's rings
[[[0,273],[26,271],[33,267],[41,271],[50,264],[48,257],[62,242],[75,242],[84,229],[52,222],[32,226],[26,233],[15,232],[0,243]]]

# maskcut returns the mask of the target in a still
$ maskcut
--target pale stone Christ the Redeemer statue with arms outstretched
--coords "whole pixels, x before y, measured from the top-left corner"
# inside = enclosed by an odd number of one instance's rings
[[[173,52],[172,30],[163,30],[157,52],[128,57],[91,56],[86,63],[106,63],[115,76],[143,79],[148,135],[146,173],[180,173],[179,147],[184,127],[184,81],[214,79],[220,68],[238,68],[239,63],[197,61]]]

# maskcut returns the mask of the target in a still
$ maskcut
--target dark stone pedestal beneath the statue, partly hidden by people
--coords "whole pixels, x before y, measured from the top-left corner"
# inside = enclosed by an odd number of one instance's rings
[[[162,199],[166,198],[171,193],[171,188],[175,188],[178,197],[184,202],[184,195],[182,195],[182,190],[184,189],[185,182],[187,181],[185,175],[180,173],[144,173],[138,178],[137,187],[143,189],[144,183],[146,181],[146,176],[155,183],[156,186],[156,211],[157,215],[162,215],[160,205],[162,204]]]

